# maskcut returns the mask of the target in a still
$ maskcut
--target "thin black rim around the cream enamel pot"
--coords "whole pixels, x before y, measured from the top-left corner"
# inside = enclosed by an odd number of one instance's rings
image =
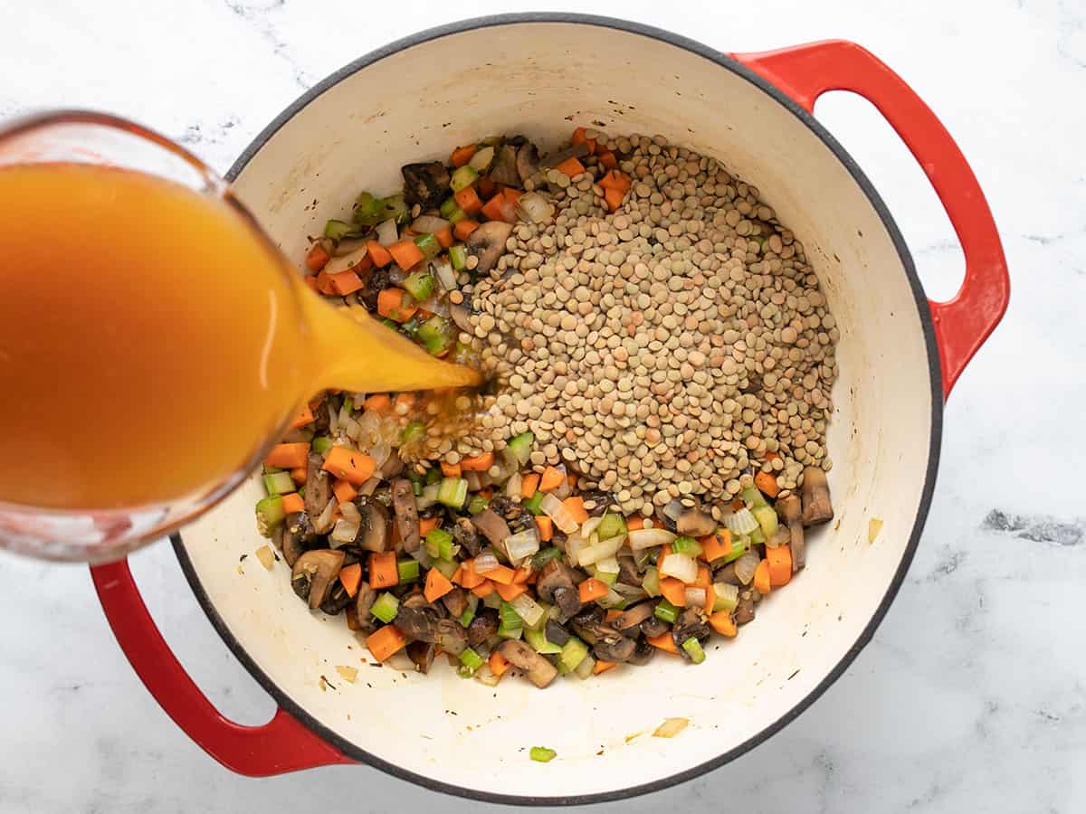
[[[920,322],[924,333],[924,342],[927,348],[927,365],[929,373],[931,378],[931,396],[932,396],[932,433],[929,445],[929,457],[927,457],[927,470],[924,478],[924,485],[921,493],[920,505],[917,510],[917,519],[912,527],[912,533],[909,536],[909,543],[906,546],[905,552],[901,556],[901,561],[898,563],[897,570],[894,573],[894,577],[886,588],[886,593],[883,595],[879,607],[875,609],[871,621],[864,626],[863,631],[860,633],[859,637],[848,649],[848,651],[841,658],[837,664],[831,670],[826,676],[815,687],[806,697],[804,697],[795,707],[793,707],[788,712],[782,715],[780,718],[774,721],[772,724],[767,726],[761,732],[748,738],[743,743],[730,749],[729,751],[711,759],[705,761],[696,766],[692,766],[683,772],[669,775],[658,780],[652,783],[641,784],[636,786],[631,786],[624,789],[616,789],[613,791],[603,791],[598,793],[591,794],[573,794],[573,796],[554,796],[554,797],[539,797],[539,796],[521,796],[521,794],[503,794],[497,792],[481,791],[479,789],[467,788],[464,786],[457,786],[455,784],[447,784],[440,780],[435,780],[424,775],[419,775],[415,772],[403,768],[392,764],[381,758],[371,754],[363,749],[359,749],[355,745],[351,743],[346,739],[333,733],[331,729],[326,727],[324,724],[315,720],[305,709],[303,709],[299,703],[291,699],[286,692],[283,692],[268,676],[262,671],[253,659],[245,651],[241,643],[233,636],[233,633],[226,625],[223,618],[215,610],[212,605],[206,592],[203,588],[200,577],[195,573],[195,569],[192,565],[192,561],[185,549],[181,542],[180,534],[174,534],[172,536],[172,542],[174,544],[174,551],[177,555],[177,559],[180,563],[181,570],[185,576],[189,581],[189,585],[192,587],[192,592],[195,594],[200,606],[203,608],[204,612],[207,614],[207,619],[211,621],[212,625],[218,632],[219,636],[226,643],[230,651],[237,657],[249,673],[256,679],[256,682],[270,695],[275,701],[283,710],[289,712],[291,715],[296,717],[306,727],[308,727],[313,733],[318,735],[320,738],[339,749],[344,755],[356,760],[359,763],[365,763],[375,768],[379,768],[382,772],[391,774],[404,780],[408,780],[416,785],[422,786],[427,789],[433,791],[440,791],[446,794],[454,794],[458,797],[464,797],[472,800],[481,800],[484,802],[492,803],[504,803],[508,805],[586,805],[592,803],[601,803],[613,800],[623,800],[632,797],[637,797],[640,794],[646,794],[653,791],[660,791],[662,789],[669,788],[680,783],[700,777],[702,775],[718,768],[725,763],[738,758],[740,755],[754,749],[756,746],[762,743],[771,736],[780,732],[785,725],[794,721],[808,707],[810,707],[826,689],[830,685],[837,681],[841,675],[848,669],[853,663],[859,652],[867,646],[874,636],[875,629],[882,622],[883,618],[886,615],[894,597],[897,595],[898,589],[901,587],[905,581],[906,573],[908,572],[909,565],[912,562],[912,558],[915,554],[917,546],[920,542],[920,535],[924,527],[924,522],[927,518],[927,511],[931,506],[932,495],[935,489],[935,476],[938,470],[938,459],[939,459],[939,445],[943,434],[943,384],[942,384],[942,371],[939,369],[938,363],[938,346],[935,341],[935,329],[932,322],[931,313],[929,310],[927,298],[924,296],[923,288],[921,287],[920,279],[917,277],[915,266],[912,262],[912,256],[909,254],[909,250],[905,244],[905,240],[901,238],[901,233],[898,230],[889,211],[883,203],[882,198],[875,191],[874,187],[864,176],[863,171],[856,164],[853,157],[845,151],[845,149],[837,142],[833,136],[830,135],[825,128],[822,127],[811,116],[807,111],[796,104],[791,98],[788,98],[784,92],[778,89],[775,86],[771,85],[766,79],[761,78],[753,71],[747,68],[742,63],[735,61],[731,56],[715,49],[708,48],[699,42],[681,37],[679,35],[672,34],[670,31],[662,30],[660,28],[655,28],[653,26],[643,25],[641,23],[633,23],[624,20],[617,20],[613,17],[586,15],[586,14],[567,14],[567,13],[525,13],[525,14],[497,14],[483,17],[475,17],[470,20],[464,20],[457,23],[452,23],[444,26],[439,26],[437,28],[429,28],[412,36],[399,39],[383,48],[379,48],[376,51],[362,56],[354,62],[345,65],[336,73],[328,76],[326,79],[315,85],[313,88],[307,90],[301,97],[299,97],[294,102],[292,102],[286,110],[282,111],[276,118],[265,127],[252,143],[245,148],[238,160],[230,167],[226,177],[227,180],[233,181],[241,171],[245,168],[245,165],[252,161],[253,156],[264,147],[264,144],[294,115],[296,115],[303,107],[310,104],[314,99],[323,94],[326,90],[338,85],[343,79],[354,75],[358,71],[371,65],[380,60],[383,60],[392,54],[399,53],[405,49],[418,46],[430,40],[440,39],[441,37],[447,37],[454,34],[460,34],[463,31],[469,31],[478,28],[488,28],[492,26],[502,25],[520,25],[526,23],[572,23],[577,25],[591,25],[598,26],[603,28],[614,28],[617,30],[626,31],[629,34],[636,34],[643,37],[649,37],[670,46],[681,48],[691,53],[697,54],[706,60],[710,60],[725,71],[742,77],[743,79],[749,81],[752,85],[759,88],[762,92],[767,94],[778,104],[785,107],[793,115],[795,115],[800,122],[804,123],[837,157],[842,165],[848,170],[856,182],[859,185],[860,189],[867,195],[871,205],[874,207],[880,219],[883,222],[891,240],[893,241],[894,247],[900,257],[901,265],[905,268],[906,275],[909,279],[909,285],[912,289],[913,298],[917,305],[917,311],[920,316]]]

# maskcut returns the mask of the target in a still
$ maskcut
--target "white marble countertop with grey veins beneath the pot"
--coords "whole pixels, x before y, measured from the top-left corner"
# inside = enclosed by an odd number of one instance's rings
[[[987,193],[1013,278],[1002,327],[950,399],[927,527],[874,641],[768,743],[696,781],[598,810],[1086,810],[1086,521],[1076,480],[1084,445],[1072,424],[1086,399],[1086,341],[1076,328],[1086,303],[1086,7],[533,5],[610,12],[721,50],[830,37],[866,44],[956,137]],[[225,169],[281,107],[341,64],[419,27],[510,10],[476,0],[8,0],[0,116],[112,110]],[[817,115],[882,192],[929,293],[952,293],[958,244],[888,126],[845,94],[824,98]],[[266,720],[270,700],[211,628],[172,550],[153,547],[132,565],[210,698],[242,722]],[[367,768],[265,780],[226,772],[140,685],[86,569],[2,555],[0,567],[0,811],[331,811],[348,800],[359,812],[467,807]]]

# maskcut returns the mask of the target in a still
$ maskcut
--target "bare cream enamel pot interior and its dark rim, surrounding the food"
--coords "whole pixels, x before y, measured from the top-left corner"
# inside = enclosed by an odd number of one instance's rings
[[[505,17],[430,31],[349,66],[289,109],[231,171],[287,256],[361,189],[399,189],[401,164],[491,133],[553,148],[576,124],[662,133],[757,186],[806,246],[841,327],[829,444],[838,521],[811,533],[807,569],[731,641],[689,666],[660,657],[597,679],[494,689],[445,664],[363,666],[342,618],[311,613],[262,544],[252,479],[177,544],[220,633],[279,703],[346,755],[455,793],[585,802],[662,787],[760,742],[870,638],[926,513],[942,416],[926,302],[888,215],[836,142],[719,52],[585,17]],[[594,123],[594,124],[593,124]],[[868,521],[885,522],[875,545]],[[336,665],[361,670],[337,682]],[[321,688],[321,676],[336,691]],[[649,734],[690,720],[677,738]],[[636,737],[632,737],[636,736]],[[528,760],[542,745],[559,758]]]

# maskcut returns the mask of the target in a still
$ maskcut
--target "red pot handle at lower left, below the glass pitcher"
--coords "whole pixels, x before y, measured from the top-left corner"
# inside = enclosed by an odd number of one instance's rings
[[[174,723],[227,768],[266,777],[329,763],[353,763],[283,710],[263,726],[242,726],[212,707],[177,661],[143,605],[128,561],[92,565],[113,635],[143,685]]]

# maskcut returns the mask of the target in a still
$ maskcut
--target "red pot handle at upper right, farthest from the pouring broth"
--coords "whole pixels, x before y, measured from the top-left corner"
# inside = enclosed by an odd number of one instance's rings
[[[952,300],[929,301],[943,368],[943,397],[1007,311],[1010,279],[984,193],[950,133],[879,58],[855,42],[826,40],[762,53],[732,54],[813,112],[828,90],[871,102],[920,162],[954,224],[965,255],[965,279]]]

